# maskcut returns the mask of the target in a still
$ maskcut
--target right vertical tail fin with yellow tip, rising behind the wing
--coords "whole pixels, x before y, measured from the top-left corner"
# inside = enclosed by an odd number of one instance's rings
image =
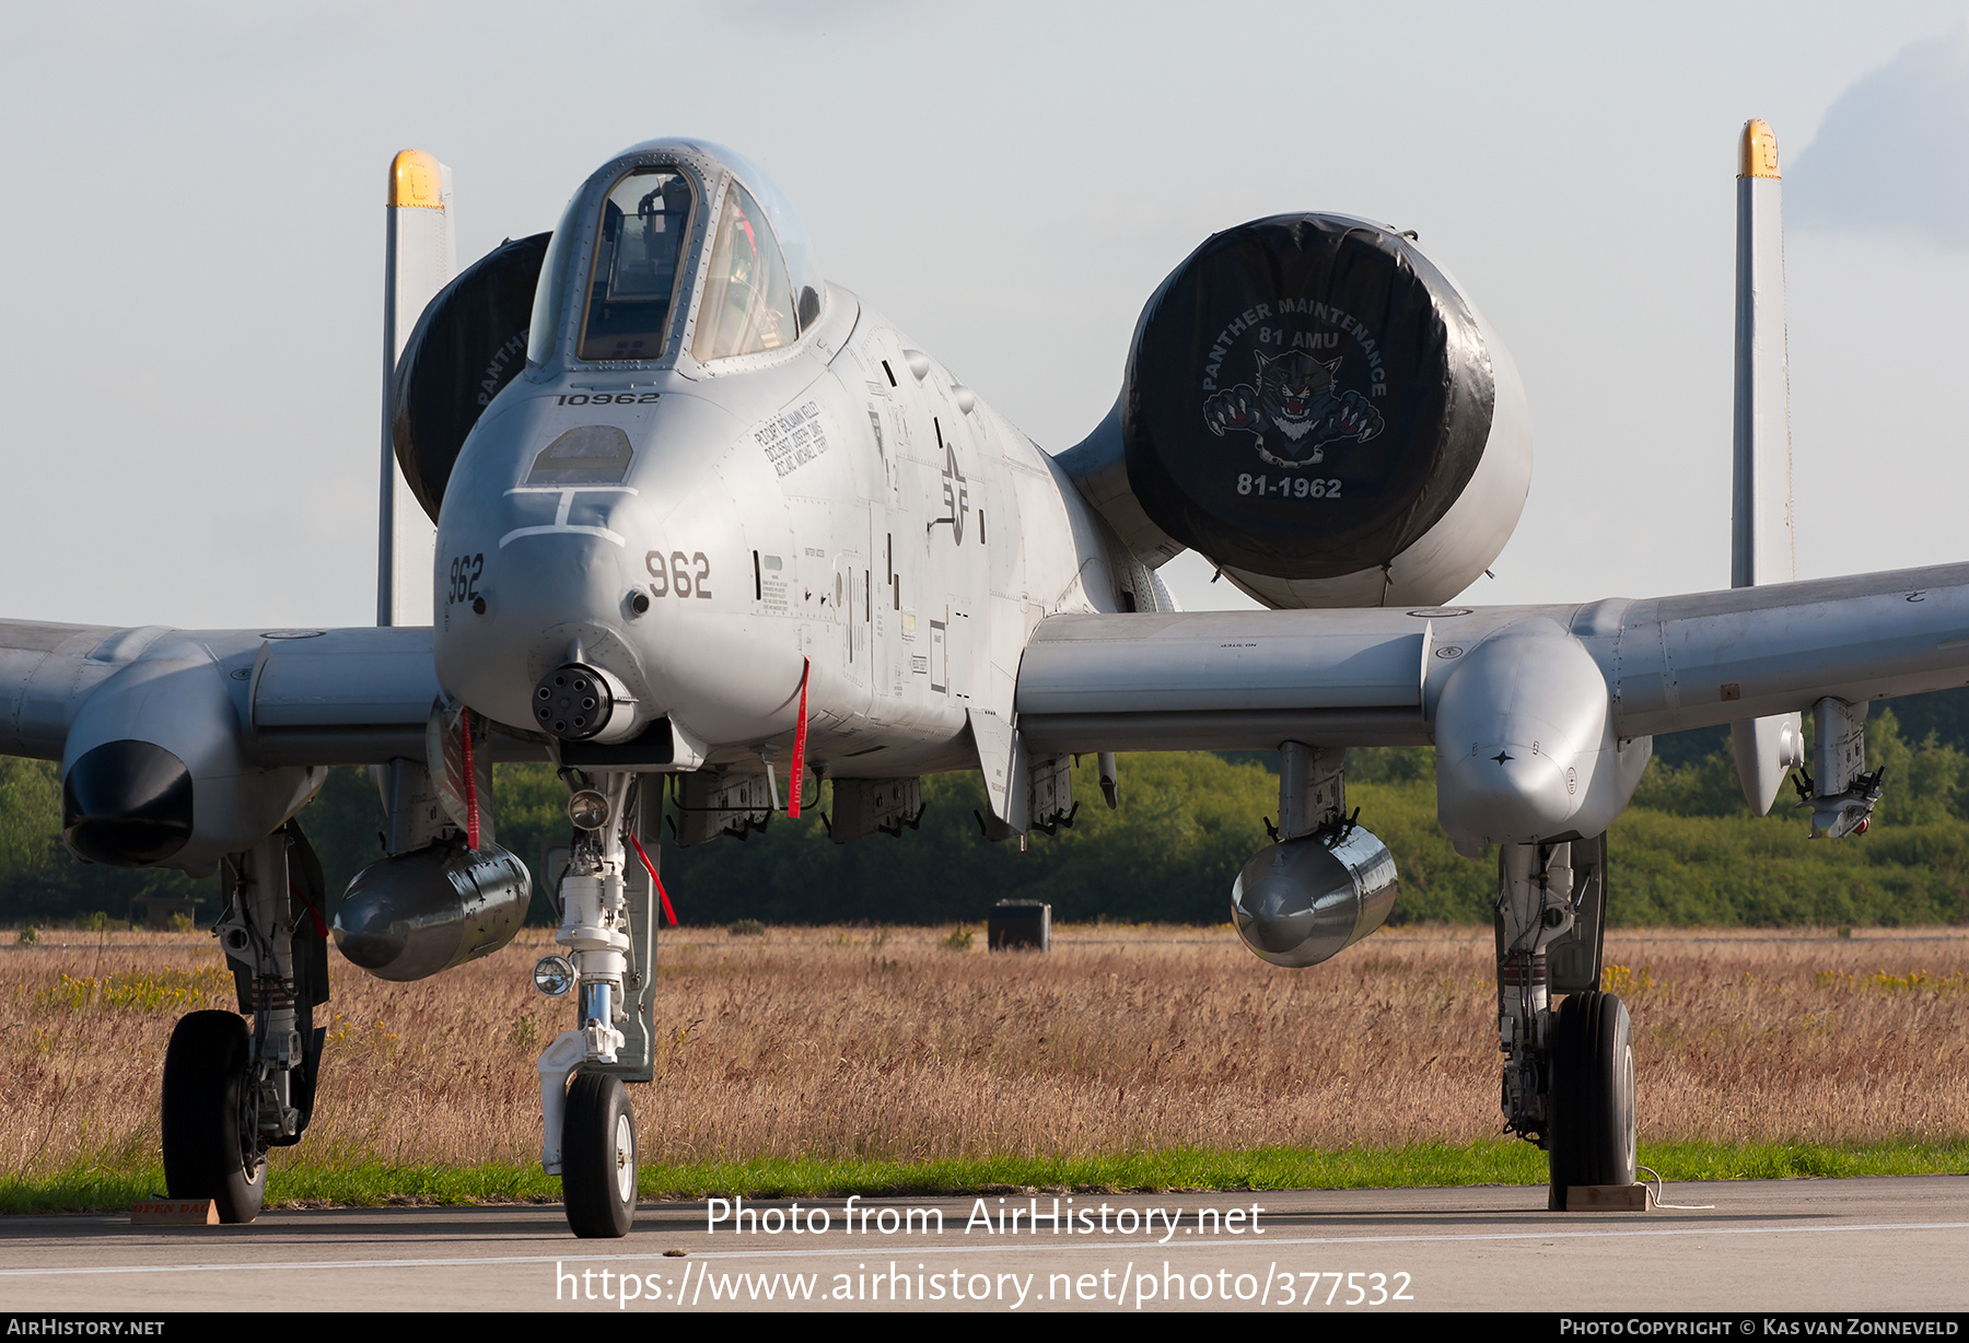
[[[1760,120],[1743,128],[1737,171],[1737,425],[1731,498],[1731,587],[1790,583],[1792,412],[1784,349],[1784,207],[1778,136]],[[1758,815],[1806,762],[1800,715],[1731,725],[1745,801]]]

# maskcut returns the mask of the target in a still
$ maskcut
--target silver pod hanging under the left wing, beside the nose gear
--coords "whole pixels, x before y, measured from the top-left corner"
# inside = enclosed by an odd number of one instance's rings
[[[425,979],[512,941],[532,898],[526,864],[498,845],[435,843],[356,872],[335,945],[376,979]]]

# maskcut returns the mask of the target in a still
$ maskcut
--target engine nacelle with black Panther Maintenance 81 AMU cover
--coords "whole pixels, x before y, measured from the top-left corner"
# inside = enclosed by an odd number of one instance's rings
[[[1408,236],[1280,215],[1164,280],[1114,414],[1063,465],[1150,563],[1195,549],[1272,607],[1433,605],[1510,540],[1530,416]]]

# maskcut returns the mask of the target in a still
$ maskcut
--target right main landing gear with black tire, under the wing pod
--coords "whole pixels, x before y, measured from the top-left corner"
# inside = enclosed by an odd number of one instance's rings
[[[1498,868],[1504,1122],[1548,1152],[1563,1211],[1569,1189],[1634,1183],[1632,1026],[1599,991],[1607,841],[1506,845]]]

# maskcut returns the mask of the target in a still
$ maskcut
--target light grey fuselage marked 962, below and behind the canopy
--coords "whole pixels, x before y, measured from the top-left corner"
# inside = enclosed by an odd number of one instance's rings
[[[439,681],[532,727],[536,681],[583,660],[634,701],[612,740],[667,719],[679,764],[717,764],[792,744],[811,666],[819,770],[977,768],[967,711],[1010,723],[1040,620],[1118,608],[1099,522],[1048,453],[841,288],[794,347],[742,362],[577,366],[498,396],[439,518]],[[620,484],[526,484],[589,425],[626,435]]]

